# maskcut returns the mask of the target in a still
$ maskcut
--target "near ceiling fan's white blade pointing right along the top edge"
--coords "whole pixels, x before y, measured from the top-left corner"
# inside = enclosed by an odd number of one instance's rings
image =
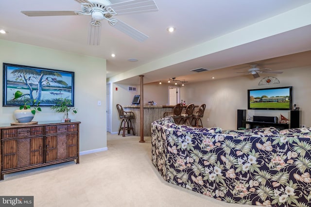
[[[154,0],[130,0],[109,5],[118,15],[129,15],[143,12],[156,12]]]

